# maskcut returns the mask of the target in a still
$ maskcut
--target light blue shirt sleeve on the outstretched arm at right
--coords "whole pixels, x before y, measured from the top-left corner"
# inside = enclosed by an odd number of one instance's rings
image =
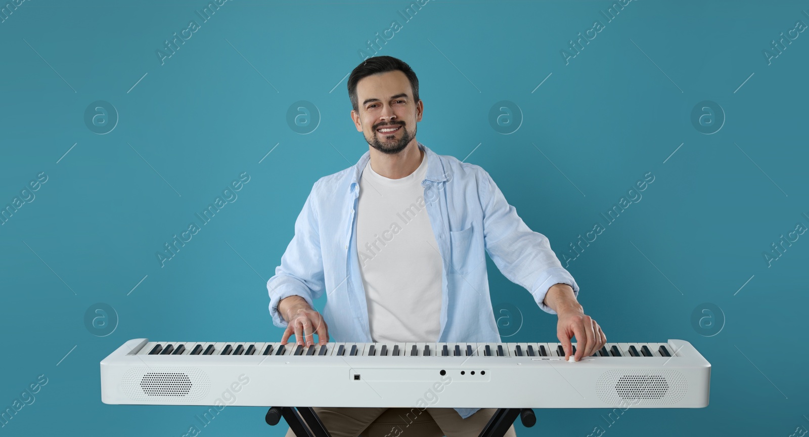
[[[578,285],[551,250],[548,238],[532,231],[517,215],[514,206],[481,168],[478,196],[483,208],[483,237],[486,252],[511,282],[530,291],[544,312],[556,314],[544,303],[551,286],[564,283],[578,297]]]

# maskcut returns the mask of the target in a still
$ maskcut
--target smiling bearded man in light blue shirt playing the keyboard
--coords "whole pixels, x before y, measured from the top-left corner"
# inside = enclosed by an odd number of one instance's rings
[[[294,334],[311,346],[317,333],[322,345],[329,332],[337,342],[500,342],[488,252],[506,278],[558,315],[565,359],[574,336],[576,360],[604,346],[604,332],[576,300],[574,278],[489,173],[417,142],[424,106],[413,70],[395,57],[370,57],[348,88],[351,118],[369,148],[353,167],[316,182],[267,282],[273,324],[286,327],[281,342]],[[323,291],[321,316],[312,298]],[[385,408],[315,410],[332,435],[358,435]],[[426,411],[450,436],[477,435],[495,409]],[[513,426],[506,435],[515,435]]]

